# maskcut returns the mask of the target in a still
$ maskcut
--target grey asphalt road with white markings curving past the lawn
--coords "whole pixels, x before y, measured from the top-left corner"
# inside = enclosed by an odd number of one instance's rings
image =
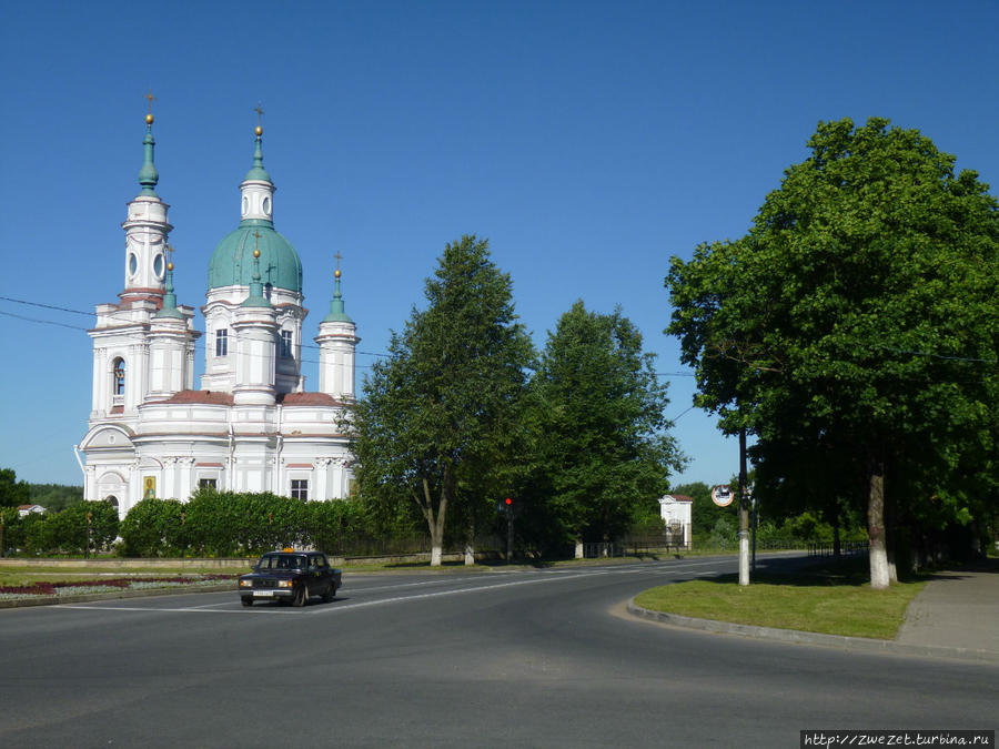
[[[766,564],[793,564],[786,558]],[[6,747],[797,747],[801,729],[993,729],[999,667],[639,621],[636,593],[736,561],[351,575],[0,611]]]

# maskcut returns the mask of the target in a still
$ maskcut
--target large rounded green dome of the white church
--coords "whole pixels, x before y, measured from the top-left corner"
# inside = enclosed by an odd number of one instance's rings
[[[255,236],[255,234],[260,236]],[[264,285],[302,293],[302,261],[291,243],[274,231],[270,221],[245,219],[225,236],[209,263],[209,289],[249,286],[253,280],[253,250],[260,250],[260,275]]]

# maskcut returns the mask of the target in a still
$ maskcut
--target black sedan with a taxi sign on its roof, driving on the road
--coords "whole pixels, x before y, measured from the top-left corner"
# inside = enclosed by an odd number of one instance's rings
[[[331,567],[321,551],[269,551],[252,573],[240,577],[240,600],[243,606],[253,606],[254,600],[304,606],[310,596],[333,600],[340,586],[341,570]]]

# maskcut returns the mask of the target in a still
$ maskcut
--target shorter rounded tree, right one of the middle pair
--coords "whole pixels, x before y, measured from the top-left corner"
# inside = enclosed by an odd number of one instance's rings
[[[577,556],[585,536],[624,530],[682,466],[654,361],[620,310],[597,314],[576,302],[548,334],[533,379],[536,475]]]

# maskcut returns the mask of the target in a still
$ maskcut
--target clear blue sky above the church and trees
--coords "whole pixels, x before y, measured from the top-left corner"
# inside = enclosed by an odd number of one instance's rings
[[[309,338],[335,252],[360,350],[377,354],[444,244],[486,236],[538,345],[577,298],[622,305],[670,383],[690,457],[674,485],[726,480],[736,442],[689,409],[690,373],[663,334],[669,257],[744,234],[820,120],[887,117],[999,183],[997,30],[993,0],[8,0],[0,296],[88,313],[117,301],[151,88],[178,298],[200,306],[239,222],[260,101]],[[82,483],[72,445],[92,375],[78,328],[92,322],[0,301],[0,467],[20,478]]]

